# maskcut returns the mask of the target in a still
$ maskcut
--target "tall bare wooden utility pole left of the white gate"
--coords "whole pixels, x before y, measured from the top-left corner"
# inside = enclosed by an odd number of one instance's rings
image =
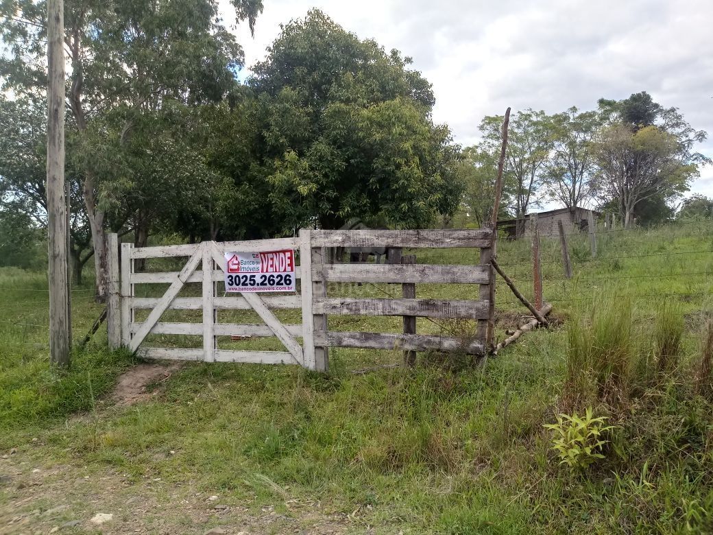
[[[47,212],[49,231],[49,353],[53,365],[69,366],[72,342],[67,263],[68,214],[64,187],[63,0],[47,2]]]

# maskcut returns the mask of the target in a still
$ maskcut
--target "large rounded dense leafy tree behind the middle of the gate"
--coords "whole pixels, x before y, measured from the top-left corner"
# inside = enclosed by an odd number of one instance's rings
[[[371,217],[419,227],[456,210],[457,150],[431,121],[431,86],[409,58],[317,10],[285,25],[269,52],[249,84],[284,231]]]

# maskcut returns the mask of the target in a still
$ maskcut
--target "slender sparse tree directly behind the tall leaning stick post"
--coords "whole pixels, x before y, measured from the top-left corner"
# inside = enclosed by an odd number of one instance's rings
[[[500,152],[502,116],[487,116],[480,125],[481,146],[493,157]],[[544,111],[518,111],[510,121],[506,180],[515,186],[515,217],[522,219],[535,200],[553,148],[553,125]],[[523,220],[524,223],[524,220]],[[518,234],[524,227],[519,225]]]

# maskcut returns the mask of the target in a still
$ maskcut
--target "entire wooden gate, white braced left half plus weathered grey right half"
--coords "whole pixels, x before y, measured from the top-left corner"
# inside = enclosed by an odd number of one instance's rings
[[[110,244],[116,244],[112,236]],[[329,347],[367,349],[465,350],[483,355],[492,344],[495,275],[490,264],[493,231],[477,230],[301,230],[297,238],[250,240],[192,245],[134,248],[121,244],[110,251],[110,344],[124,345],[146,358],[203,360],[205,362],[257,362],[296,364],[310,370],[327,370]],[[478,248],[475,265],[424,264],[329,264],[328,248]],[[223,280],[226,252],[299,250],[295,295],[241,292],[219,297],[216,283]],[[188,258],[178,272],[135,272],[139,258]],[[474,259],[475,260],[475,259]],[[200,269],[199,269],[200,267]],[[118,272],[120,271],[120,282]],[[187,284],[201,283],[200,297],[178,297]],[[473,299],[438,300],[412,298],[329,297],[332,282],[401,282],[478,285]],[[141,284],[168,283],[160,297],[136,297]],[[118,285],[120,284],[120,291]],[[116,288],[117,290],[111,290]],[[120,299],[116,296],[120,295]],[[117,314],[116,308],[120,308]],[[302,325],[284,325],[272,310],[302,309]],[[137,310],[150,310],[143,321]],[[167,310],[202,310],[202,322],[160,322]],[[264,325],[220,323],[217,310],[254,310]],[[344,332],[329,330],[328,315],[406,316],[478,320],[476,340],[463,347],[462,340],[440,335],[393,332]],[[118,325],[117,325],[118,324]],[[119,334],[120,333],[120,334]],[[145,347],[150,334],[199,335],[202,348]],[[277,337],[285,351],[241,351],[217,348],[217,336]],[[297,340],[302,337],[302,343]]]

